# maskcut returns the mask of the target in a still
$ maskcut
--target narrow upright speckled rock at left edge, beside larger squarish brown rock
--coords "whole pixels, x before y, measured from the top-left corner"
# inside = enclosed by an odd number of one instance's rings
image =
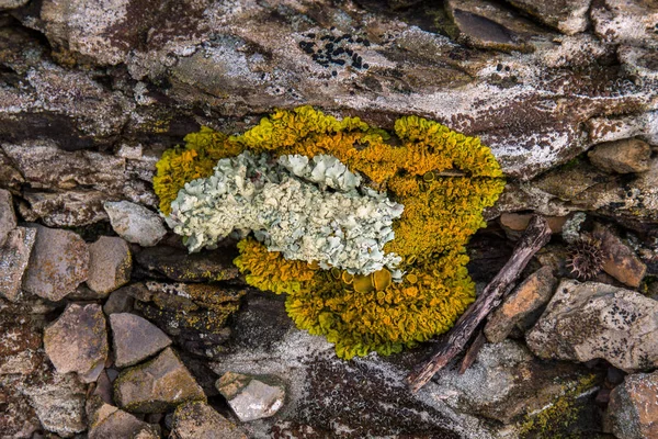
[[[35,228],[16,227],[0,246],[0,296],[11,302],[19,300],[23,273],[35,240]]]

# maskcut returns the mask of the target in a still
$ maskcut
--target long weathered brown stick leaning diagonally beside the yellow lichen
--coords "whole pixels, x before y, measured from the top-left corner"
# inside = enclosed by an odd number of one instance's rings
[[[502,296],[513,286],[530,259],[538,249],[551,239],[551,228],[546,219],[535,215],[527,224],[527,228],[517,244],[511,258],[496,274],[496,278],[485,288],[475,303],[460,317],[446,341],[440,345],[439,350],[424,363],[419,364],[407,376],[407,383],[412,392],[418,392],[434,373],[445,367],[457,353],[464,349],[480,322],[500,303]]]

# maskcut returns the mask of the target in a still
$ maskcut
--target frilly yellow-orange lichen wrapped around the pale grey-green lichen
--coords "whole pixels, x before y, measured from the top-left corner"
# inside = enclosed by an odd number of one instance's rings
[[[336,157],[373,190],[386,191],[405,206],[384,250],[401,258],[398,268],[406,275],[395,282],[386,268],[367,275],[325,270],[268,251],[251,237],[239,243],[235,263],[251,285],[287,294],[295,324],[326,336],[339,357],[398,352],[446,331],[475,299],[465,245],[485,225],[481,212],[496,202],[504,180],[478,138],[418,116],[399,119],[395,136],[388,143],[388,133],[356,117],[339,121],[310,106],[276,111],[242,135],[217,135],[202,158],[190,142],[163,157],[167,164],[158,166],[155,181],[157,193],[166,196],[161,211],[171,212],[185,182],[212,173],[208,149],[218,158],[241,150]],[[179,164],[184,165],[180,171]]]

